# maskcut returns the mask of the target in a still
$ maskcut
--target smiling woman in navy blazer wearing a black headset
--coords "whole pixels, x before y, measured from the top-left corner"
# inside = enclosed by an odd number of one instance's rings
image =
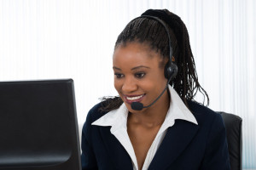
[[[113,72],[119,97],[88,113],[83,169],[230,169],[221,116],[193,101],[198,90],[209,99],[176,14],[149,9],[131,20],[115,44]]]

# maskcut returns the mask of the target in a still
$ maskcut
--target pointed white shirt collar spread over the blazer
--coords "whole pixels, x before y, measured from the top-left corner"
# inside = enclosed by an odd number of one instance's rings
[[[191,113],[191,111],[189,111],[187,106],[184,105],[183,100],[179,97],[177,92],[172,88],[171,85],[168,85],[168,88],[171,95],[171,101],[162,127],[172,127],[176,119],[182,119],[197,125],[198,123],[196,122],[195,116]],[[127,116],[128,109],[126,108],[125,104],[122,104],[119,109],[109,111],[106,115],[102,116],[91,124],[102,127],[111,126],[111,133],[113,133],[120,128],[127,128]]]

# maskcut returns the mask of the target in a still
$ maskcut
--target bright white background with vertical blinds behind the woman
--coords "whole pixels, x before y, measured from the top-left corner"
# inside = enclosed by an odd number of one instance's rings
[[[116,94],[114,42],[148,8],[183,19],[210,108],[243,118],[243,167],[256,168],[253,0],[0,0],[0,81],[73,78],[81,127],[98,98]]]

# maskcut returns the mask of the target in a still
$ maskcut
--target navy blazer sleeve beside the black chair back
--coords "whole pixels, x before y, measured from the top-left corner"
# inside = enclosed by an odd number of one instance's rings
[[[230,156],[226,139],[224,121],[216,114],[207,138],[207,149],[201,164],[201,169],[229,170]]]

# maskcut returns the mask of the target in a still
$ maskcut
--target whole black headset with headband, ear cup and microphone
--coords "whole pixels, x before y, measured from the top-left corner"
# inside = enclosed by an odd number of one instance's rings
[[[160,97],[165,93],[166,89],[168,88],[169,82],[171,82],[171,80],[174,77],[176,77],[176,75],[177,75],[177,65],[175,65],[172,62],[172,40],[171,40],[171,36],[170,36],[170,32],[168,30],[168,27],[166,26],[166,23],[164,21],[160,20],[159,18],[151,16],[151,15],[142,15],[142,16],[135,18],[134,20],[137,20],[139,18],[148,18],[148,19],[157,20],[162,26],[164,26],[167,36],[168,36],[170,54],[169,54],[169,61],[167,62],[166,66],[165,66],[165,77],[168,80],[166,83],[166,88],[162,91],[162,93],[156,99],[154,99],[154,101],[150,105],[143,106],[143,104],[140,102],[132,102],[131,109],[133,109],[135,111],[141,111],[141,110],[143,110],[143,108],[148,108],[151,105],[154,105],[154,103],[158,99],[160,99]]]

